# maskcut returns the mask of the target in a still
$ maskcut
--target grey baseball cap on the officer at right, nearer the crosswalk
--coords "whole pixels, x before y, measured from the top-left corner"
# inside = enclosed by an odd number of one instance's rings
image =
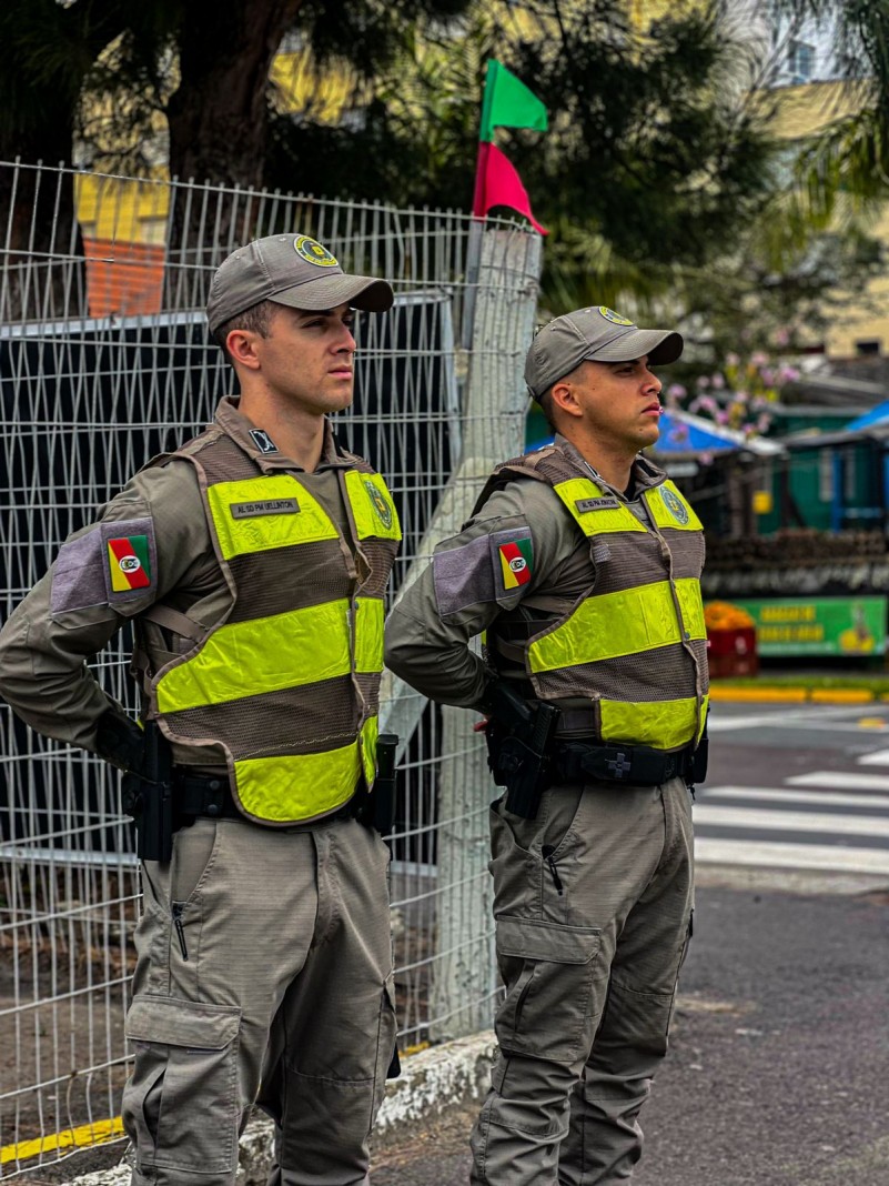
[[[623,363],[648,356],[650,363],[674,363],[683,352],[674,330],[640,330],[606,305],[556,317],[536,334],[525,359],[525,382],[535,400],[589,359]]]

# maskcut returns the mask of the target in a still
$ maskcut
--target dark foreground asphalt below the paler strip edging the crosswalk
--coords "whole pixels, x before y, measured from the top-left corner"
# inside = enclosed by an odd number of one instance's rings
[[[885,1186],[889,894],[705,888],[635,1186]],[[466,1186],[474,1108],[376,1160]]]

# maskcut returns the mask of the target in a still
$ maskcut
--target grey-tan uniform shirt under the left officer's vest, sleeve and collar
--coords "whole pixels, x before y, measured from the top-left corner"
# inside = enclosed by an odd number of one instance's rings
[[[268,438],[237,410],[237,400],[219,403],[216,422],[263,472],[302,472],[276,449],[263,452],[261,446]],[[337,471],[348,466],[338,455],[327,425],[312,493],[340,527],[346,523],[346,512]],[[121,536],[147,534],[153,540],[148,587],[126,593],[109,587],[103,543],[115,535],[115,524],[120,524]],[[187,614],[206,630],[218,625],[232,604],[213,550],[197,471],[175,457],[141,470],[95,523],[75,531],[46,575],[9,616],[0,631],[0,694],[38,733],[95,750],[98,719],[120,706],[96,681],[87,661],[128,619],[136,619],[155,604]],[[153,668],[174,653],[149,651]],[[207,769],[224,764],[224,755],[213,747],[202,753],[194,746],[173,746],[173,758]]]

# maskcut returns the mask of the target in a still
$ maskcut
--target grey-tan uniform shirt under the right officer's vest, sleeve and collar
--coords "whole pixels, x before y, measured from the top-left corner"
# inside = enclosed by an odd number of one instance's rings
[[[557,435],[556,445],[589,470],[597,485],[627,502],[564,436]],[[663,477],[646,458],[637,459],[634,493],[657,485]],[[639,519],[650,522],[640,497],[627,505]],[[529,538],[531,579],[507,589],[499,547]],[[486,668],[469,650],[469,640],[504,611],[533,605],[538,598],[545,598],[554,610],[556,604],[567,610],[591,591],[595,579],[589,540],[555,490],[533,478],[518,478],[494,491],[460,535],[435,549],[431,565],[398,601],[386,621],[386,667],[430,700],[478,708]]]

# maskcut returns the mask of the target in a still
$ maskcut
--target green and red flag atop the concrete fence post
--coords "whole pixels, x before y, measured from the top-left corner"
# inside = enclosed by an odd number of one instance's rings
[[[541,235],[546,234],[531,211],[527,191],[516,167],[493,144],[494,128],[535,128],[545,132],[546,108],[503,63],[487,64],[485,97],[481,106],[479,155],[475,170],[475,193],[472,212],[484,218],[492,206],[510,206],[531,222]]]

